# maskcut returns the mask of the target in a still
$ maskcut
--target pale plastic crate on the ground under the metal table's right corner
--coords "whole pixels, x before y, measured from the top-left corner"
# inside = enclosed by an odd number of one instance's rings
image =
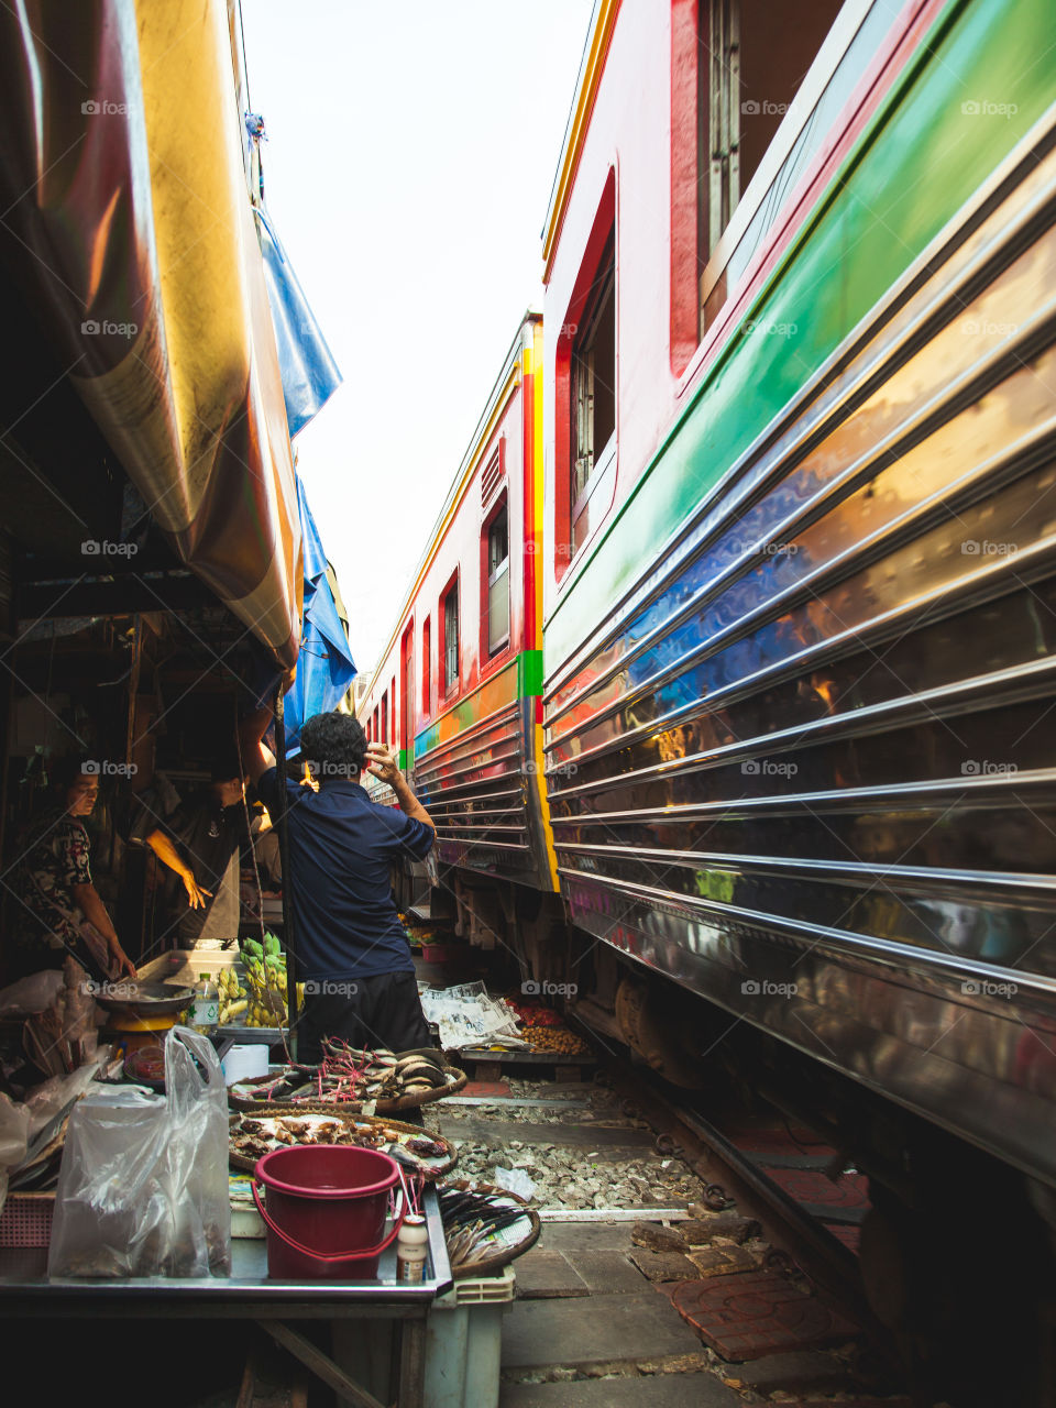
[[[503,1315],[514,1300],[513,1267],[455,1281],[425,1322],[424,1408],[498,1408]]]

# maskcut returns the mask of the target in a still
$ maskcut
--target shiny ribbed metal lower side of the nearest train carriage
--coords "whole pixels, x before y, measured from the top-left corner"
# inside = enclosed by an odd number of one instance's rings
[[[548,658],[545,694],[577,925],[1045,1177],[1052,144]]]

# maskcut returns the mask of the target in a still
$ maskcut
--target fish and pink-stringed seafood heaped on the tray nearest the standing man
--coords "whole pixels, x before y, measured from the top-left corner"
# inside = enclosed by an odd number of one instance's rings
[[[356,1107],[366,1101],[404,1100],[452,1083],[441,1052],[362,1050],[339,1038],[322,1043],[318,1066],[286,1066],[265,1080],[231,1087],[237,1100],[268,1104],[332,1104]],[[455,1077],[459,1077],[455,1073]]]

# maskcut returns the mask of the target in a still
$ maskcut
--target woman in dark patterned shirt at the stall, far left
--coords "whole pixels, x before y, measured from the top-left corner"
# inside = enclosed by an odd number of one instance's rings
[[[6,932],[14,950],[11,977],[62,967],[73,957],[96,981],[135,977],[135,964],[117,938],[92,883],[90,841],[83,818],[99,798],[96,763],[59,765],[61,804],[45,812],[23,841],[8,888]]]

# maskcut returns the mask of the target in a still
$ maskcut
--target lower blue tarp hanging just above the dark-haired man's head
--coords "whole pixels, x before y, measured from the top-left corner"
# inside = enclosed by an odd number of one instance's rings
[[[304,617],[297,680],[286,696],[283,710],[287,753],[297,752],[304,719],[337,708],[356,676],[356,662],[327,582],[327,555],[300,477],[297,507],[304,549]]]

